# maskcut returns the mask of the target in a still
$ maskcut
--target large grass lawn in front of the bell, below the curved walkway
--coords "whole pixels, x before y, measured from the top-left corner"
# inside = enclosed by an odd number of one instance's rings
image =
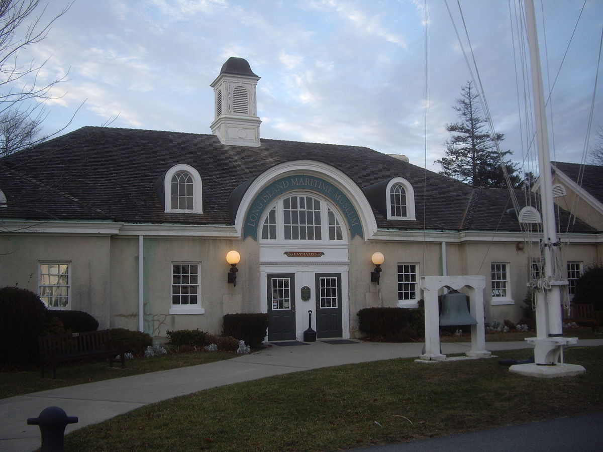
[[[603,347],[573,347],[578,377],[512,374],[498,358],[414,359],[295,372],[152,404],[65,440],[69,451],[326,451],[603,410]]]

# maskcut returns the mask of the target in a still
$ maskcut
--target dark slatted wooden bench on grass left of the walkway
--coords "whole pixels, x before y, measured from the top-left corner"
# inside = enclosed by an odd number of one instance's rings
[[[121,368],[125,368],[124,341],[113,341],[110,330],[39,336],[38,345],[42,378],[45,377],[47,364],[51,365],[52,378],[55,379],[58,362],[88,358],[105,357],[109,359],[110,367],[113,362],[121,362]],[[116,358],[118,355],[119,358]]]

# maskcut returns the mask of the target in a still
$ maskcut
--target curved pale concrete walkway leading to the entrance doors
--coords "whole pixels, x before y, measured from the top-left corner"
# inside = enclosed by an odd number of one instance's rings
[[[584,345],[603,345],[603,339],[578,342],[578,346]],[[441,347],[443,354],[470,350],[470,344],[467,343],[443,343]],[[493,352],[527,347],[523,341],[487,343],[487,350]],[[49,406],[61,407],[68,416],[79,418],[77,424],[68,425],[66,433],[69,433],[149,403],[215,386],[326,366],[418,357],[422,348],[423,344],[378,342],[340,345],[314,342],[290,347],[273,346],[225,361],[0,399],[0,450],[27,452],[40,447],[39,427],[27,425],[27,419],[37,417]],[[517,359],[525,358],[517,356]]]

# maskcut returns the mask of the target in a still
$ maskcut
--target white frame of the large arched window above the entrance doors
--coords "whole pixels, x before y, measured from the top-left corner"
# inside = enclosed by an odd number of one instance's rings
[[[320,240],[317,239],[285,239],[285,216],[283,213],[283,200],[286,198],[290,198],[291,196],[310,196],[311,198],[318,199],[320,201]],[[264,224],[268,215],[270,215],[270,211],[276,207],[276,237],[264,239]],[[341,231],[341,239],[339,240],[330,240],[329,239],[329,228],[333,228],[334,231],[337,230],[335,225],[329,224],[329,210],[333,212],[335,216],[335,220],[338,224],[338,231]],[[272,223],[270,223],[272,224]],[[266,209],[266,212],[262,216],[260,221],[260,231],[259,237],[261,242],[265,243],[281,243],[287,245],[319,245],[323,243],[329,243],[330,245],[345,245],[347,244],[348,236],[347,236],[347,228],[346,222],[344,222],[343,218],[341,218],[341,214],[336,207],[329,202],[326,198],[322,196],[317,196],[314,192],[290,192],[286,193],[286,195],[277,199],[276,202],[271,204],[271,206]]]

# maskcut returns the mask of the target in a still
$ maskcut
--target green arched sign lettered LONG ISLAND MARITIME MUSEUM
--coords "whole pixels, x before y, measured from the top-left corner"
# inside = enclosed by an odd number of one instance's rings
[[[341,215],[346,219],[351,238],[353,239],[357,235],[364,237],[358,212],[356,212],[352,201],[350,201],[341,190],[320,177],[298,174],[280,178],[257,193],[245,216],[243,239],[253,237],[254,240],[257,240],[257,230],[260,226],[259,222],[267,207],[270,206],[278,196],[291,192],[292,190],[310,190],[312,192],[320,193],[327,199],[330,199],[330,201],[338,207]]]

